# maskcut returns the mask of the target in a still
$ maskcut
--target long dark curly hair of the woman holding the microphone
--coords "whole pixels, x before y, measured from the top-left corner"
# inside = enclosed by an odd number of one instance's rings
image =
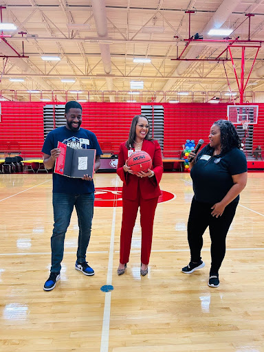
[[[232,122],[227,120],[217,120],[216,124],[221,133],[221,153],[226,153],[232,148],[241,148],[241,140]]]

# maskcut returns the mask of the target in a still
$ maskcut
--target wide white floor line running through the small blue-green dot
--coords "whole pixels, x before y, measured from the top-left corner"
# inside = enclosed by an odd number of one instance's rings
[[[118,175],[116,175],[115,188],[117,186],[118,186]],[[115,241],[115,213],[116,213],[116,204],[113,207],[111,239],[110,239],[110,248],[109,248],[108,270],[107,270],[107,285],[111,285],[111,283],[112,283],[113,245],[114,245],[114,241]],[[105,298],[104,298],[104,317],[102,320],[102,336],[101,336],[100,352],[108,352],[110,312],[111,312],[111,292],[106,292]]]

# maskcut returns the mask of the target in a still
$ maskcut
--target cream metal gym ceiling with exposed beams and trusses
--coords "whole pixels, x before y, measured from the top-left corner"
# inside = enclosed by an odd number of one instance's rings
[[[230,28],[230,40],[247,41],[245,80],[259,41],[247,90],[263,90],[264,0],[8,0],[1,7],[2,22],[17,30],[2,31],[0,89],[130,91],[141,81],[144,91],[237,91],[230,56],[220,56],[224,65],[215,60],[229,43],[208,41],[224,38],[208,30]],[[247,14],[254,16],[245,21]],[[188,43],[195,34],[206,41]],[[183,50],[184,61],[172,60]],[[239,76],[241,47],[232,56]]]

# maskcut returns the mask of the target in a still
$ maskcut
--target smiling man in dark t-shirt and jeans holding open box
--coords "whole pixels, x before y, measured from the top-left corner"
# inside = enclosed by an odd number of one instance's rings
[[[51,131],[43,144],[43,162],[45,168],[54,168],[56,158],[61,153],[58,142],[71,148],[96,149],[94,170],[100,168],[101,148],[96,135],[80,128],[82,123],[82,106],[76,101],[65,105],[66,125]],[[51,291],[61,278],[61,261],[63,260],[65,233],[76,208],[79,225],[77,261],[75,268],[87,276],[94,275],[94,270],[87,264],[86,251],[91,236],[91,221],[94,214],[94,181],[89,175],[83,178],[66,177],[53,173],[53,210],[54,230],[52,232],[52,267],[50,277],[44,284],[45,291]]]

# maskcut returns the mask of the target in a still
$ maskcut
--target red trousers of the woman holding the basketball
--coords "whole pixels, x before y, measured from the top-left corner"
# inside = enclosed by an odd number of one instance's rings
[[[137,209],[140,207],[140,225],[142,230],[141,263],[148,265],[151,255],[153,222],[158,198],[142,199],[140,192],[137,191],[137,199],[134,201],[123,199],[120,263],[125,264],[129,262],[132,233],[137,217]]]

